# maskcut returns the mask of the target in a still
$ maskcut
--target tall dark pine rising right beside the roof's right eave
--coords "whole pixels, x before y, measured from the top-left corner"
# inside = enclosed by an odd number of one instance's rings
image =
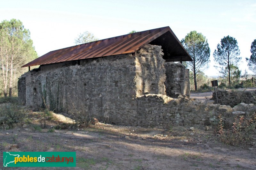
[[[205,36],[196,31],[188,33],[181,43],[193,59],[193,61],[185,62],[185,66],[193,71],[195,91],[197,91],[196,77],[201,70],[209,65],[210,48]]]

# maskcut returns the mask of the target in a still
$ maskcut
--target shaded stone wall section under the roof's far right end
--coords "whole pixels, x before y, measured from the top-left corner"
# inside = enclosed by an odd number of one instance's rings
[[[174,62],[165,62],[164,67],[166,94],[173,98],[177,98],[180,94],[189,96],[189,70],[183,64]]]

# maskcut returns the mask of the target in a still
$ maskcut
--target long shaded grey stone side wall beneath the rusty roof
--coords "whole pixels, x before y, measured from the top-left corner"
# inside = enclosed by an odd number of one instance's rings
[[[136,97],[132,55],[43,65],[26,77],[27,106],[38,109],[44,99],[55,112],[79,112],[106,122],[122,122],[120,112],[131,114],[130,100]]]

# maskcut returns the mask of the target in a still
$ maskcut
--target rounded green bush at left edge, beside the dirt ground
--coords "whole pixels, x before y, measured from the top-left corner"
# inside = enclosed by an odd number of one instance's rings
[[[26,114],[19,105],[6,104],[0,108],[0,126],[5,129],[13,128],[14,123],[22,122],[25,117]]]

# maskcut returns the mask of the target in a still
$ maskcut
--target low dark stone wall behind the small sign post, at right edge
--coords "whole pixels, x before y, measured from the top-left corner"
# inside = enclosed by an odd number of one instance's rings
[[[231,90],[217,90],[218,103],[221,105],[229,105],[234,107],[239,103],[256,104],[256,90],[253,91],[231,91]],[[217,103],[215,92],[212,93],[212,99]]]

